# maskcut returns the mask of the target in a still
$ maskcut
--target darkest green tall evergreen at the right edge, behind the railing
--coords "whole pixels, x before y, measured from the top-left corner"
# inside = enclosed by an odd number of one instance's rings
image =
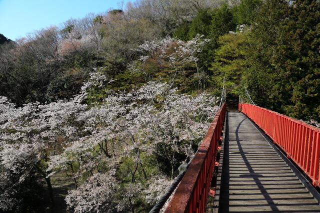
[[[320,119],[320,2],[296,0],[289,7],[289,20],[283,20],[287,26],[287,44],[281,45],[285,54],[282,64],[283,74],[288,76],[292,89],[292,102],[285,110],[296,118]],[[285,43],[284,43],[285,44]],[[276,62],[277,62],[276,61]]]

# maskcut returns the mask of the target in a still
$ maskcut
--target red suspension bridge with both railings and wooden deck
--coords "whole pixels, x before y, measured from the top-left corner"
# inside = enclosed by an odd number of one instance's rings
[[[320,212],[320,129],[222,104],[166,213]]]

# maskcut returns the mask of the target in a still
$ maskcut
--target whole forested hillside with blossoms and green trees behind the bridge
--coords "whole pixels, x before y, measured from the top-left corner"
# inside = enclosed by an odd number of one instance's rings
[[[320,2],[136,0],[0,44],[0,212],[148,212],[222,86],[320,121]]]

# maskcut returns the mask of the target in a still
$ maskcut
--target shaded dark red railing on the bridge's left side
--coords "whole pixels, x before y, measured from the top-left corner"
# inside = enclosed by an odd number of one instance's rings
[[[205,138],[170,200],[166,213],[205,212],[224,117],[225,103],[216,113]]]

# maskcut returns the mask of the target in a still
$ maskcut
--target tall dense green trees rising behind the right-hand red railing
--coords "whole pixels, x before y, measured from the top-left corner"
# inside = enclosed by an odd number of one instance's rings
[[[245,80],[257,104],[320,119],[320,2],[267,0],[252,28]]]

